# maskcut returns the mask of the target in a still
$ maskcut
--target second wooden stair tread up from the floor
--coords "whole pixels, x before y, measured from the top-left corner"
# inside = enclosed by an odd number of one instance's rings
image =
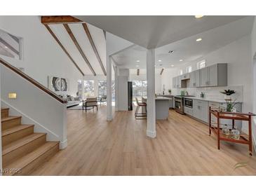
[[[25,144],[32,142],[34,139],[37,139],[44,135],[46,135],[46,133],[33,133],[32,135],[28,135],[27,137],[23,137],[21,139],[18,139],[15,142],[11,142],[11,144],[3,146],[2,156],[6,155],[7,153],[10,153],[11,151],[13,151],[15,149],[18,149],[20,146],[24,146]]]

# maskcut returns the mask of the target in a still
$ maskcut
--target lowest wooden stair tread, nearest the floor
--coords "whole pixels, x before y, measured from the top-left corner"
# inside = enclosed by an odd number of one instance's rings
[[[43,153],[46,153],[48,150],[53,148],[59,144],[59,142],[46,142],[45,144],[39,146],[39,148],[35,149],[34,151],[28,153],[27,155],[23,156],[22,158],[19,158],[18,160],[15,160],[13,163],[6,165],[4,169],[22,169],[29,165],[29,163],[32,163],[36,158],[39,158],[43,155]],[[6,173],[4,175],[12,175],[11,173]]]

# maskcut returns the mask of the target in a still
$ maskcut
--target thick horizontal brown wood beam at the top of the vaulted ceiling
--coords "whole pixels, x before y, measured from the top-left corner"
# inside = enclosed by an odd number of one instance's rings
[[[41,23],[43,24],[64,24],[64,23],[83,23],[82,20],[74,18],[70,15],[62,16],[41,16]]]

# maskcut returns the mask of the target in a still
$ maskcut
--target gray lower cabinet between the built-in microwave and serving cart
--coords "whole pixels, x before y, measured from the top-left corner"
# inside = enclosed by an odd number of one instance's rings
[[[193,100],[193,104],[194,117],[208,123],[208,102]]]

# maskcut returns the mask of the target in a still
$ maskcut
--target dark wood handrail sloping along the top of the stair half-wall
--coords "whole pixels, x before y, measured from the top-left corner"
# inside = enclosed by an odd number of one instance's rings
[[[56,100],[58,100],[59,102],[65,104],[67,103],[67,100],[63,100],[59,95],[57,95],[55,92],[49,90],[48,88],[46,88],[45,86],[43,86],[41,83],[37,82],[34,80],[34,78],[31,78],[30,76],[28,76],[27,74],[23,73],[22,71],[20,71],[20,69],[18,69],[17,67],[14,67],[13,65],[9,64],[8,62],[6,62],[5,60],[3,60],[0,57],[0,62],[1,64],[3,64],[5,67],[7,67],[8,69],[11,69],[12,71],[14,71],[16,74],[22,76],[22,78],[25,78],[27,81],[29,81],[30,83],[32,83],[33,85],[35,85],[37,88],[43,90],[44,92],[46,92],[48,95],[50,95],[51,97],[55,98]]]

